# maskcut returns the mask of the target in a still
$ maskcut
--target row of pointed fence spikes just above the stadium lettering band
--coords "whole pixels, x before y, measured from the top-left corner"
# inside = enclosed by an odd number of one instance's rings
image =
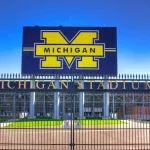
[[[56,79],[57,77],[57,79]],[[148,74],[119,74],[117,76],[104,76],[104,75],[95,75],[95,76],[88,76],[88,75],[22,75],[22,74],[8,74],[8,73],[2,73],[0,75],[0,79],[54,79],[54,80],[69,80],[71,78],[74,79],[81,79],[81,80],[86,80],[86,79],[95,79],[95,80],[150,80],[150,75]]]

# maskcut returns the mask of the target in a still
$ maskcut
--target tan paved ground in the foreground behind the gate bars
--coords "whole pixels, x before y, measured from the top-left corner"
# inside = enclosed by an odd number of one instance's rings
[[[83,126],[82,129],[75,129],[75,150],[150,149],[150,124],[127,122],[127,125]],[[0,128],[0,149],[69,150],[70,140],[71,130],[62,126]]]

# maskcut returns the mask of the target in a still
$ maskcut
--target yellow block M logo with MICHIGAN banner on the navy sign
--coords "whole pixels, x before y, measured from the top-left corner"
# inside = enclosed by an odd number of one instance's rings
[[[68,68],[76,60],[76,69],[98,69],[98,58],[104,57],[104,44],[96,44],[98,31],[79,31],[71,41],[59,30],[41,31],[43,44],[35,44],[35,57],[41,59],[41,68],[61,69],[63,60]]]

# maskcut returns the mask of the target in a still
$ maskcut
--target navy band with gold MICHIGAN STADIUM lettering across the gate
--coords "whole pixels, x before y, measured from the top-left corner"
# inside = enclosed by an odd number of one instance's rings
[[[35,86],[33,86],[33,83],[35,82]],[[116,80],[110,80],[109,83],[109,89],[113,90],[137,90],[137,89],[150,89],[150,82],[149,81],[116,81]],[[101,90],[105,89],[105,84],[103,80],[88,80],[84,83],[80,81],[68,81],[68,80],[59,80],[59,89],[88,89],[88,90]],[[58,89],[55,86],[54,80],[44,81],[44,80],[1,80],[0,81],[0,89],[41,89],[41,90],[53,90]]]

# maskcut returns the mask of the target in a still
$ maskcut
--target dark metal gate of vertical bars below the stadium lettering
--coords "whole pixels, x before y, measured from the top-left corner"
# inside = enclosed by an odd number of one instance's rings
[[[101,90],[84,92],[82,119],[79,92],[60,92],[60,119],[53,118],[54,92],[36,92],[32,119],[29,92],[1,92],[0,149],[150,149],[150,92],[107,92],[109,116]]]

